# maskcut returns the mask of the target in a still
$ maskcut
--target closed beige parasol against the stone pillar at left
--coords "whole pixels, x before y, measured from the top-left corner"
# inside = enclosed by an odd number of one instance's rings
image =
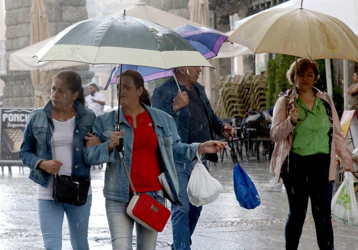
[[[34,44],[50,37],[48,20],[43,0],[33,0],[30,17],[30,43]],[[31,71],[31,81],[35,89],[35,107],[42,107],[50,98],[53,71]]]

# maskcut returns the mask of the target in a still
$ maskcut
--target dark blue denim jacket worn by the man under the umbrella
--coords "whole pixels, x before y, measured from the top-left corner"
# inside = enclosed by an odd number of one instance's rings
[[[185,86],[179,85],[180,90],[187,91]],[[219,117],[214,113],[213,109],[211,108],[210,102],[208,100],[208,97],[205,94],[205,90],[202,85],[199,83],[193,84],[194,88],[197,88],[199,91],[200,99],[204,102],[206,107],[206,114],[209,120],[209,128],[210,128],[210,135],[211,139],[214,140],[214,133],[217,135],[222,135],[223,126],[226,122],[219,119]],[[171,115],[176,124],[176,128],[178,129],[178,134],[180,138],[182,139],[183,143],[187,143],[188,141],[188,124],[189,124],[189,112],[188,112],[188,106],[183,107],[182,109],[179,109],[177,111],[174,111],[173,109],[173,100],[178,95],[178,85],[176,84],[174,77],[169,78],[166,82],[164,82],[159,87],[156,87],[153,92],[152,96],[152,103],[153,107],[156,109],[163,110],[167,114]],[[209,154],[207,154],[207,159],[211,160],[213,162],[217,162],[218,157],[216,154],[210,154],[211,157],[208,157]]]

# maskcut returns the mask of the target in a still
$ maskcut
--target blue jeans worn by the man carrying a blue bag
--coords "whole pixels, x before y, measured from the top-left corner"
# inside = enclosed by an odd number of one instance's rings
[[[206,161],[203,164],[208,169]],[[171,244],[171,249],[190,250],[191,237],[199,220],[202,206],[197,207],[189,202],[187,187],[193,166],[175,162],[175,169],[179,182],[179,199],[184,205],[181,207],[171,205],[171,227],[174,241]]]

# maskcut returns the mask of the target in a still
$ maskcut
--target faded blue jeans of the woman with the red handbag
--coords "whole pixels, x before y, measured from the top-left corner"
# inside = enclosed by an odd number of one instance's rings
[[[145,193],[164,205],[165,200],[163,190]],[[129,201],[132,197],[133,193],[130,193]],[[126,201],[106,199],[106,213],[108,225],[110,227],[113,250],[132,250],[132,232],[135,221],[127,215],[126,210],[128,204],[129,202]],[[158,232],[150,231],[139,223],[135,224],[137,232],[137,250],[155,250]]]

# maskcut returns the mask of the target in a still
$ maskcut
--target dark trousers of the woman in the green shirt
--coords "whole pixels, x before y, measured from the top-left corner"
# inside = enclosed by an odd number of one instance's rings
[[[334,181],[328,180],[329,164],[330,154],[301,156],[290,152],[289,169],[287,171],[286,165],[282,171],[290,209],[285,228],[286,249],[298,247],[308,197],[311,198],[319,249],[334,249],[331,222]]]

